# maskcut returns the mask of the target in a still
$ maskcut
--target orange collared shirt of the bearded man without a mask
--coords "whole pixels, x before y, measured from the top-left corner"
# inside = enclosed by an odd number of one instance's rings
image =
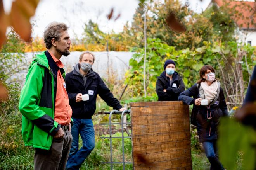
[[[61,61],[58,60],[53,54],[51,54],[51,56],[59,68],[64,67]],[[54,120],[61,125],[67,125],[71,122],[71,116],[72,116],[72,109],[69,105],[69,100],[68,100],[68,95],[66,90],[66,83],[64,81],[63,76],[61,75],[61,71],[58,70]]]

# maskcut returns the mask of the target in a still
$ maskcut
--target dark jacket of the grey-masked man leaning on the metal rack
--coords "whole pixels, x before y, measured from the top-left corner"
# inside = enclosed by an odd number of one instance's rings
[[[122,108],[119,101],[114,98],[109,88],[105,85],[99,74],[96,72],[87,76],[84,85],[83,77],[74,69],[66,75],[66,88],[69,97],[69,104],[72,108],[72,117],[78,119],[91,119],[96,110],[97,95],[116,110]],[[90,93],[88,93],[90,90]],[[89,94],[88,101],[76,102],[78,93]],[[92,94],[93,93],[93,94]]]

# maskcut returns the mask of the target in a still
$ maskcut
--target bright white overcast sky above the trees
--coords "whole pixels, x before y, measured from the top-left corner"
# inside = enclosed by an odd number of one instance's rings
[[[3,0],[5,12],[9,12],[14,0]],[[180,0],[188,2],[189,7],[195,12],[202,12],[211,0]],[[132,17],[138,7],[138,0],[40,0],[34,17],[31,17],[33,37],[43,37],[45,27],[52,21],[64,22],[69,26],[69,34],[81,36],[85,23],[90,19],[99,24],[104,32],[121,32],[126,22],[131,24]],[[111,8],[114,16],[119,13],[121,17],[114,22],[108,20]]]

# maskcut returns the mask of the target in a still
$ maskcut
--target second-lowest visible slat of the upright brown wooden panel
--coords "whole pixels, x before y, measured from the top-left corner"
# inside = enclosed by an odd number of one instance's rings
[[[190,155],[190,154],[191,154],[190,148],[182,149],[182,150],[173,150],[169,152],[147,153],[147,154],[133,156],[133,162],[135,165],[141,165],[145,163],[154,163],[154,162],[185,158],[187,155]]]

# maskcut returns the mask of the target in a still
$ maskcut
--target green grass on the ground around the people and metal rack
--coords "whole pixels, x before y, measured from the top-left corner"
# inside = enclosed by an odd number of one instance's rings
[[[119,136],[117,133],[116,136]],[[131,161],[131,141],[125,139],[125,161]],[[81,146],[81,139],[80,139]],[[5,155],[0,152],[0,170],[32,170],[34,167],[34,150],[26,147],[19,155]],[[237,157],[237,170],[242,168],[242,154]],[[110,160],[109,139],[100,139],[96,136],[96,145],[92,153],[86,158],[80,170],[109,170],[110,164],[102,164],[100,162]],[[113,161],[122,160],[121,140],[113,139]],[[209,170],[210,163],[204,153],[192,150],[192,165],[194,170]],[[225,167],[225,165],[224,165]],[[122,164],[114,164],[114,170],[122,170]],[[132,170],[132,164],[125,165],[126,170]]]

